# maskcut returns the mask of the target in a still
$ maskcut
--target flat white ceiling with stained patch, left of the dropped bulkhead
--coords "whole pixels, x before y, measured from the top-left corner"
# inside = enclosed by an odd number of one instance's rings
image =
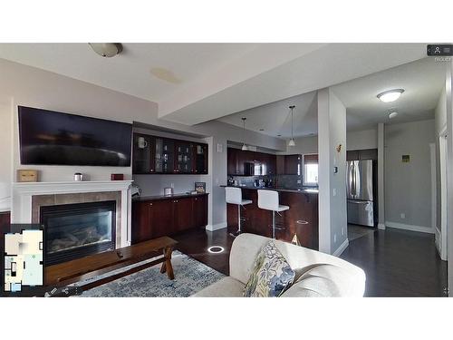
[[[102,58],[88,44],[0,44],[0,58],[159,102],[257,46],[123,44],[119,55]],[[151,74],[152,69],[158,75],[173,75],[179,82],[159,79]]]

